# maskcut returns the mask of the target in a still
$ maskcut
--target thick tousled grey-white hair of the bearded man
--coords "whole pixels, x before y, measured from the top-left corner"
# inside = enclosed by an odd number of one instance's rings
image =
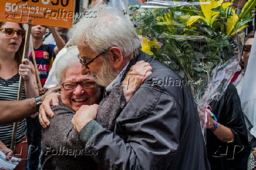
[[[110,47],[119,47],[125,60],[139,55],[140,40],[133,23],[121,11],[100,1],[88,11],[96,18],[80,19],[69,32],[70,40],[79,46],[88,45],[93,52],[101,53]]]

